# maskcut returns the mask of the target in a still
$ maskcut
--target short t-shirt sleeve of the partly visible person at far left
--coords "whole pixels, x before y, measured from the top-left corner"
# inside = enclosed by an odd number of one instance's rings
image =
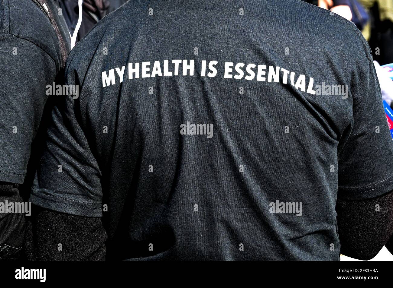
[[[54,60],[40,47],[0,34],[0,181],[23,183],[55,75]]]

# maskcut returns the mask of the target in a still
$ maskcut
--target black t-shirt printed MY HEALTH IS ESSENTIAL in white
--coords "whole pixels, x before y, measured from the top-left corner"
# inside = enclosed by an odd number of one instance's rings
[[[31,201],[108,259],[338,260],[337,197],[393,189],[369,46],[319,7],[130,1],[66,69]]]

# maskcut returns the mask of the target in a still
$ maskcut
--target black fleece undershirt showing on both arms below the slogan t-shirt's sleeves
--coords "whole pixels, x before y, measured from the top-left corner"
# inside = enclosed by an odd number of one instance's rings
[[[338,199],[336,210],[344,255],[372,259],[393,234],[393,192],[363,201]],[[74,216],[37,206],[33,211],[25,239],[28,259],[105,260],[107,234],[101,218]]]

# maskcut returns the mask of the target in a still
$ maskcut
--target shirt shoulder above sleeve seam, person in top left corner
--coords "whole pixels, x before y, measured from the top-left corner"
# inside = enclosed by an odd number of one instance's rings
[[[46,14],[32,0],[0,0],[0,34],[33,43],[60,67],[57,35]]]

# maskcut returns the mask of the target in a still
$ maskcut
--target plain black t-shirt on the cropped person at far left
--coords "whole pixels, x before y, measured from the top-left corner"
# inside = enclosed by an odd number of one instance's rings
[[[69,51],[70,34],[57,0],[46,3]],[[0,181],[21,184],[48,99],[46,86],[61,70],[61,46],[32,0],[2,0],[0,16]]]

